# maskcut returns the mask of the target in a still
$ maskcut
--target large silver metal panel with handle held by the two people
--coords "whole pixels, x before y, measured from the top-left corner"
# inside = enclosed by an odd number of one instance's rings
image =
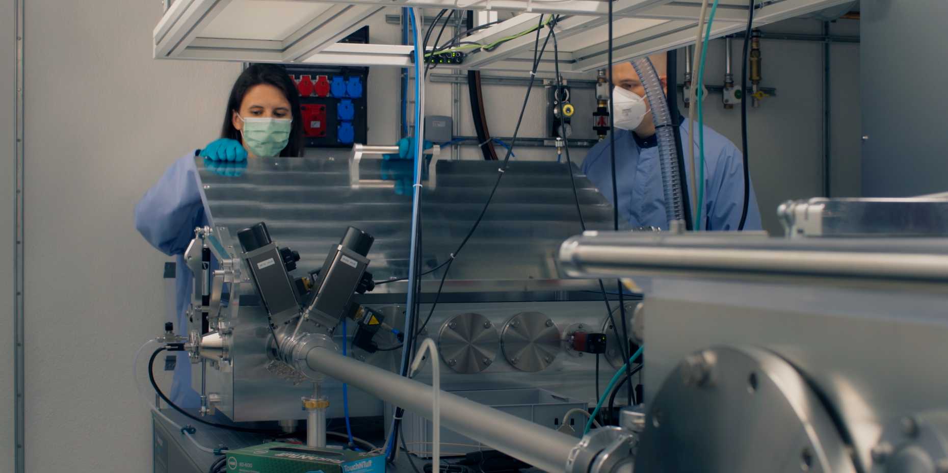
[[[300,252],[299,267],[308,270],[320,267],[345,228],[353,226],[375,237],[369,258],[376,281],[408,275],[410,194],[399,195],[393,188],[352,189],[345,159],[251,159],[236,176],[215,172],[196,159],[210,223],[227,227],[233,240],[225,246],[239,249],[236,232],[264,221],[279,245]],[[498,167],[490,161],[437,163],[436,189],[426,189],[423,195],[426,270],[447,261],[464,239],[493,188]],[[382,179],[383,171],[389,177],[401,175],[399,189],[410,192],[410,162],[362,161],[364,179]],[[574,173],[587,227],[611,228],[609,202],[585,176]],[[566,165],[511,162],[483,222],[452,264],[448,281],[555,280],[556,250],[580,231]],[[432,273],[426,279],[441,275]]]

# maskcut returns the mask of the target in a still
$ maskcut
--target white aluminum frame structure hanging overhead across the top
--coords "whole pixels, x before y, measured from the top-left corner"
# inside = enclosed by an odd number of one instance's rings
[[[847,1],[758,0],[754,26]],[[178,0],[155,27],[154,54],[156,59],[410,67],[410,45],[337,43],[386,7],[513,12],[513,17],[465,38],[482,44],[535,26],[541,14],[562,15],[556,24],[561,74],[587,73],[607,64],[608,37],[605,28],[595,28],[607,23],[608,4],[599,0]],[[613,61],[689,44],[700,9],[698,0],[615,0]],[[711,36],[738,33],[746,18],[742,0],[721,1]],[[273,27],[262,32],[248,25]],[[532,36],[525,35],[470,54],[457,67],[527,72],[533,43]],[[545,55],[539,70],[553,72],[553,51]]]

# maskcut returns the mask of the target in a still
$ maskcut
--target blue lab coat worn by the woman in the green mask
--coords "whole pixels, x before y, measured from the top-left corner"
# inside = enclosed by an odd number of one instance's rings
[[[161,252],[175,257],[174,309],[178,317],[174,330],[186,337],[188,319],[185,312],[191,303],[193,277],[191,269],[184,263],[184,251],[194,238],[194,227],[208,225],[201,192],[197,189],[195,155],[197,151],[174,161],[135,206],[135,227],[141,236]],[[184,352],[175,352],[175,355],[177,362],[172,391],[167,395],[182,408],[200,407],[200,395],[191,389],[191,361]],[[155,369],[160,370],[161,364],[155,363]]]

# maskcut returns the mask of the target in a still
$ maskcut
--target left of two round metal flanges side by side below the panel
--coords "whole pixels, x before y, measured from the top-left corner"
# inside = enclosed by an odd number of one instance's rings
[[[458,314],[442,324],[438,352],[455,372],[481,373],[497,357],[500,341],[497,328],[481,314]]]

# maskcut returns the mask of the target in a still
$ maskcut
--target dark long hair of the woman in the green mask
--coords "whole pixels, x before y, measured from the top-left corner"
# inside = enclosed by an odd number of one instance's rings
[[[283,157],[297,157],[302,155],[305,142],[302,135],[302,115],[300,113],[300,94],[296,84],[286,74],[286,69],[277,64],[252,64],[241,73],[234,86],[230,89],[228,109],[224,112],[224,126],[221,127],[221,137],[242,141],[240,130],[234,128],[232,114],[240,112],[240,105],[244,102],[246,91],[254,85],[266,83],[273,85],[283,92],[283,96],[290,102],[290,111],[293,114],[293,128],[290,130],[290,139],[286,147],[280,152]]]

